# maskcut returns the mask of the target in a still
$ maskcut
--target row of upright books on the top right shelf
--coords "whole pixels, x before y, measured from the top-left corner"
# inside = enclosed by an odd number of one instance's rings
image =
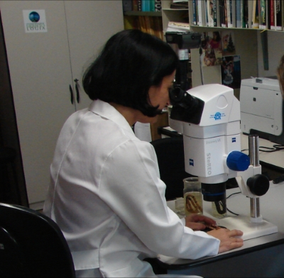
[[[281,0],[192,0],[192,25],[283,30]]]

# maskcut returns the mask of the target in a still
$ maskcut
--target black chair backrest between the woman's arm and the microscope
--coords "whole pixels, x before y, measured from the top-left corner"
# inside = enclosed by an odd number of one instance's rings
[[[185,153],[182,136],[154,140],[151,144],[155,148],[158,158],[160,179],[167,186],[165,199],[173,200],[182,197],[182,179],[192,177],[192,175],[185,172]]]

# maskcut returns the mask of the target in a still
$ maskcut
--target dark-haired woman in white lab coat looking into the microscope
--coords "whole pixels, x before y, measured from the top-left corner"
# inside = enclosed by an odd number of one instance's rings
[[[241,231],[194,231],[215,222],[181,221],[167,207],[153,146],[131,129],[136,121],[154,123],[169,104],[177,66],[168,44],[124,30],[84,74],[94,101],[62,128],[44,207],[67,239],[78,277],[155,277],[144,258],[196,259],[243,244],[234,238]]]

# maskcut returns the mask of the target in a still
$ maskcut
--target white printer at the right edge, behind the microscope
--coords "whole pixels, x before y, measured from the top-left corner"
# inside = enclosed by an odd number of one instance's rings
[[[283,99],[277,77],[241,80],[241,131],[284,145]]]

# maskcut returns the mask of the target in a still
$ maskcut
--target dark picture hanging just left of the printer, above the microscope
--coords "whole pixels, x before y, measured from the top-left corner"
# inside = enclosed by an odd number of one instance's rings
[[[222,84],[232,89],[241,87],[241,59],[239,55],[222,57]]]

